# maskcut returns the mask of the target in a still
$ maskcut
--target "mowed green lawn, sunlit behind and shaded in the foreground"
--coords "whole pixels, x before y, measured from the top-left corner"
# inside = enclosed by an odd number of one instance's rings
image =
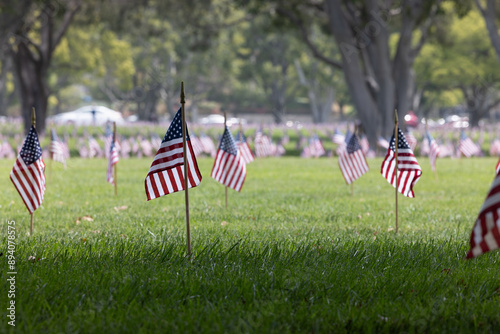
[[[210,177],[146,202],[151,159],[47,163],[43,208],[30,217],[0,161],[0,332],[496,332],[500,252],[464,260],[496,158],[419,158],[414,199],[380,175],[351,188],[337,159],[261,159],[241,193]],[[91,219],[82,217],[89,216]],[[7,315],[7,222],[16,222],[16,328]],[[35,261],[28,260],[30,256]],[[39,259],[39,260],[38,260]]]

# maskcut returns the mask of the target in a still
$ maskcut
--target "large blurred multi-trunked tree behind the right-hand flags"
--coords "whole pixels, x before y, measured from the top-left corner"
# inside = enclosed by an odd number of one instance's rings
[[[343,71],[351,101],[370,142],[392,131],[394,108],[401,115],[409,110],[411,70],[438,13],[440,0],[255,3],[257,8],[292,23],[318,59]],[[326,56],[310,38],[312,21],[329,30],[341,50],[340,60]]]

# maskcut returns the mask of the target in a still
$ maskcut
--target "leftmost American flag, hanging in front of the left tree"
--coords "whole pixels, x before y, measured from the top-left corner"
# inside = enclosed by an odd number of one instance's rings
[[[34,126],[31,126],[14,167],[12,167],[10,179],[21,195],[28,211],[35,212],[42,204],[45,194],[45,164]]]

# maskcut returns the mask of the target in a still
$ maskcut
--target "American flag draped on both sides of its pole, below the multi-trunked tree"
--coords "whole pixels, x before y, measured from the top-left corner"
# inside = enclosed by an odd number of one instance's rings
[[[394,169],[396,167],[395,148],[396,145],[393,135],[389,148],[387,149],[387,155],[380,169],[382,176],[385,177],[393,187],[396,187],[396,177],[394,175]],[[406,197],[415,197],[413,186],[417,183],[421,175],[422,169],[413,155],[413,151],[408,145],[405,135],[401,129],[398,128],[398,191]]]

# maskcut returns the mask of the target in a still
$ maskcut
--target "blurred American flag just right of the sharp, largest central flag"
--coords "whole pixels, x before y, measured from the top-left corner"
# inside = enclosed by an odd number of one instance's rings
[[[240,191],[247,176],[246,164],[226,126],[215,157],[212,177],[231,189]]]

